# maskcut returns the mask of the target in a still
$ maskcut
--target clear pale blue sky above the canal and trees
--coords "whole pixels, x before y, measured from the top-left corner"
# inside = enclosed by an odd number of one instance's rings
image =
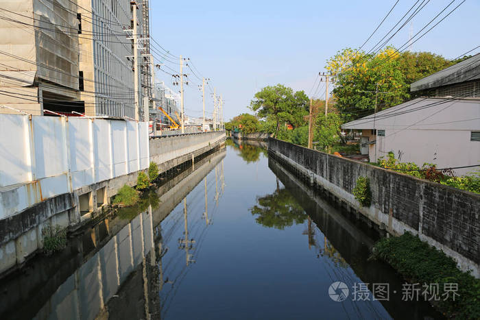
[[[413,34],[451,1],[429,1],[412,20]],[[173,55],[191,58],[200,76],[212,79],[211,85],[225,100],[224,118],[228,121],[241,112],[249,112],[250,100],[263,86],[285,84],[309,93],[315,75],[325,71],[326,60],[345,47],[359,47],[395,2],[151,0],[152,37]],[[380,40],[415,2],[398,1],[364,49]],[[459,3],[461,0],[455,0],[444,14]],[[413,51],[456,58],[477,47],[479,12],[480,0],[467,0],[418,40]],[[390,45],[400,47],[407,42],[410,27],[408,24],[401,29]],[[472,53],[477,52],[480,49]],[[165,64],[179,73],[177,64]],[[184,72],[193,80],[185,88],[185,112],[201,116],[202,98],[197,88],[201,81],[189,69]],[[161,71],[156,72],[156,77],[171,84],[171,76]],[[312,91],[315,89],[316,86]],[[213,100],[209,92],[207,97],[206,108],[211,113]]]

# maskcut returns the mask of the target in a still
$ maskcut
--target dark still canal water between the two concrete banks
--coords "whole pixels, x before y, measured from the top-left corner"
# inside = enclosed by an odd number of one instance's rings
[[[228,140],[0,280],[0,319],[440,318],[369,260],[378,238],[265,145]]]

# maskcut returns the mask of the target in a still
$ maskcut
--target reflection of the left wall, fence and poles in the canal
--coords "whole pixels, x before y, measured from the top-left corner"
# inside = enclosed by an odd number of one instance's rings
[[[159,293],[173,284],[171,278],[163,277],[163,257],[169,249],[163,241],[171,230],[165,235],[161,221],[182,202],[186,210],[184,237],[178,245],[187,266],[193,263],[190,252],[195,241],[190,234],[195,236],[197,230],[187,221],[186,196],[200,181],[206,186],[206,175],[214,168],[219,173],[215,185],[223,190],[219,164],[224,156],[223,149],[198,160],[195,169],[165,177],[160,187],[145,194],[136,206],[111,212],[77,232],[64,251],[36,256],[21,271],[3,278],[0,319],[160,319],[163,305]],[[207,202],[205,212],[208,214]],[[212,214],[207,218],[209,224],[213,223]],[[201,242],[202,236],[195,238]]]

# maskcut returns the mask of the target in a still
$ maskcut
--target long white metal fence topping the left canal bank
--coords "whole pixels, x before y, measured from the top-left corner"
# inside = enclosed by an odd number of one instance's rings
[[[147,168],[148,140],[147,123],[0,114],[0,219]]]

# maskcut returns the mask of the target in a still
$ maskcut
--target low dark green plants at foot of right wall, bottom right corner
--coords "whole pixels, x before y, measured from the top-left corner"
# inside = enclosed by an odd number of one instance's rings
[[[480,280],[460,271],[455,260],[422,242],[418,236],[405,232],[402,236],[383,238],[375,244],[372,256],[391,264],[411,283],[418,283],[419,295],[424,291],[422,284],[438,284],[439,291],[429,292],[427,297],[440,297],[431,302],[446,317],[480,319]],[[447,288],[448,284],[458,284],[455,301],[452,292],[448,295],[444,290],[445,284]]]

